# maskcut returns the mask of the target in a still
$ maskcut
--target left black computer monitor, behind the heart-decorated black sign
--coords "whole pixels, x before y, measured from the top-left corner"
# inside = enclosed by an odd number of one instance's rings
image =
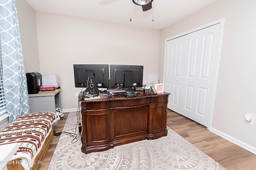
[[[108,64],[74,64],[75,87],[86,87],[88,77],[94,76],[98,88],[109,88]]]

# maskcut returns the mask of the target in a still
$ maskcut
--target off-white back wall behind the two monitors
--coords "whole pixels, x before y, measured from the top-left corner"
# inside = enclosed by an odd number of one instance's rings
[[[36,12],[40,71],[60,75],[63,109],[78,107],[73,64],[144,65],[158,71],[160,31]]]

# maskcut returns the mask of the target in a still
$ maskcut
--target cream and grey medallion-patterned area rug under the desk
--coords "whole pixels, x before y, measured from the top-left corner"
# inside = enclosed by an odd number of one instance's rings
[[[63,131],[74,133],[75,127],[76,112],[70,112]],[[72,144],[73,139],[60,135],[48,170],[225,170],[170,128],[168,135],[159,139],[89,154],[81,152],[81,138]]]

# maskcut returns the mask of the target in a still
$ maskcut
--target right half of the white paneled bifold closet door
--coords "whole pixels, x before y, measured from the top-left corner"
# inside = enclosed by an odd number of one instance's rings
[[[190,43],[188,60],[184,61],[184,86],[193,89],[183,89],[186,103],[180,114],[208,126],[210,105],[212,103],[212,89],[214,83],[214,71],[216,66],[217,48],[219,37],[219,25],[210,26],[187,35]]]

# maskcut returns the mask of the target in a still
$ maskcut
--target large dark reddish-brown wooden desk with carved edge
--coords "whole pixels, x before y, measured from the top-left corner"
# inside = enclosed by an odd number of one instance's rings
[[[168,95],[141,93],[136,97],[100,95],[100,99],[81,99],[82,152],[166,136]]]

